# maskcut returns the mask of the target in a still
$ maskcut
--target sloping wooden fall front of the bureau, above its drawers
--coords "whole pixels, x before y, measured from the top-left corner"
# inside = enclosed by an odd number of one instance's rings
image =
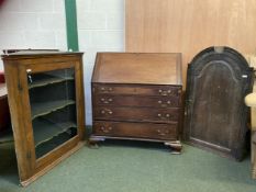
[[[98,53],[92,82],[181,84],[181,54]]]

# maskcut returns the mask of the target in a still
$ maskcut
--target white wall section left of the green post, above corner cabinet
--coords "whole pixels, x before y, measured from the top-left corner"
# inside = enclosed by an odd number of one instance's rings
[[[66,48],[64,0],[4,0],[0,7],[0,52]],[[3,69],[0,61],[0,70]]]

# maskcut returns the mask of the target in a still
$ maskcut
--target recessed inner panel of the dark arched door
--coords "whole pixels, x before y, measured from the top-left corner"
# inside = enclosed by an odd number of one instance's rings
[[[215,64],[194,77],[194,90],[208,91],[194,92],[197,100],[193,111],[199,113],[192,114],[192,126],[197,128],[191,129],[191,137],[230,149],[232,140],[237,139],[233,138],[235,136],[232,135],[232,129],[237,132],[240,126],[237,110],[234,106],[240,104],[237,101],[242,98],[238,94],[233,95],[233,91],[241,92],[240,83],[234,81],[227,67]]]

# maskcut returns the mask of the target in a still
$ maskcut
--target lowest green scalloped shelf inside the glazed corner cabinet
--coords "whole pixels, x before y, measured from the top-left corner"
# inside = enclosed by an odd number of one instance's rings
[[[74,122],[53,123],[42,118],[35,120],[33,122],[35,147],[73,127],[77,127]]]

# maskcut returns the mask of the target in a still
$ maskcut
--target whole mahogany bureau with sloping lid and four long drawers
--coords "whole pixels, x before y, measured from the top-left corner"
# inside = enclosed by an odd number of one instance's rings
[[[90,142],[160,142],[180,153],[181,54],[98,53]]]

